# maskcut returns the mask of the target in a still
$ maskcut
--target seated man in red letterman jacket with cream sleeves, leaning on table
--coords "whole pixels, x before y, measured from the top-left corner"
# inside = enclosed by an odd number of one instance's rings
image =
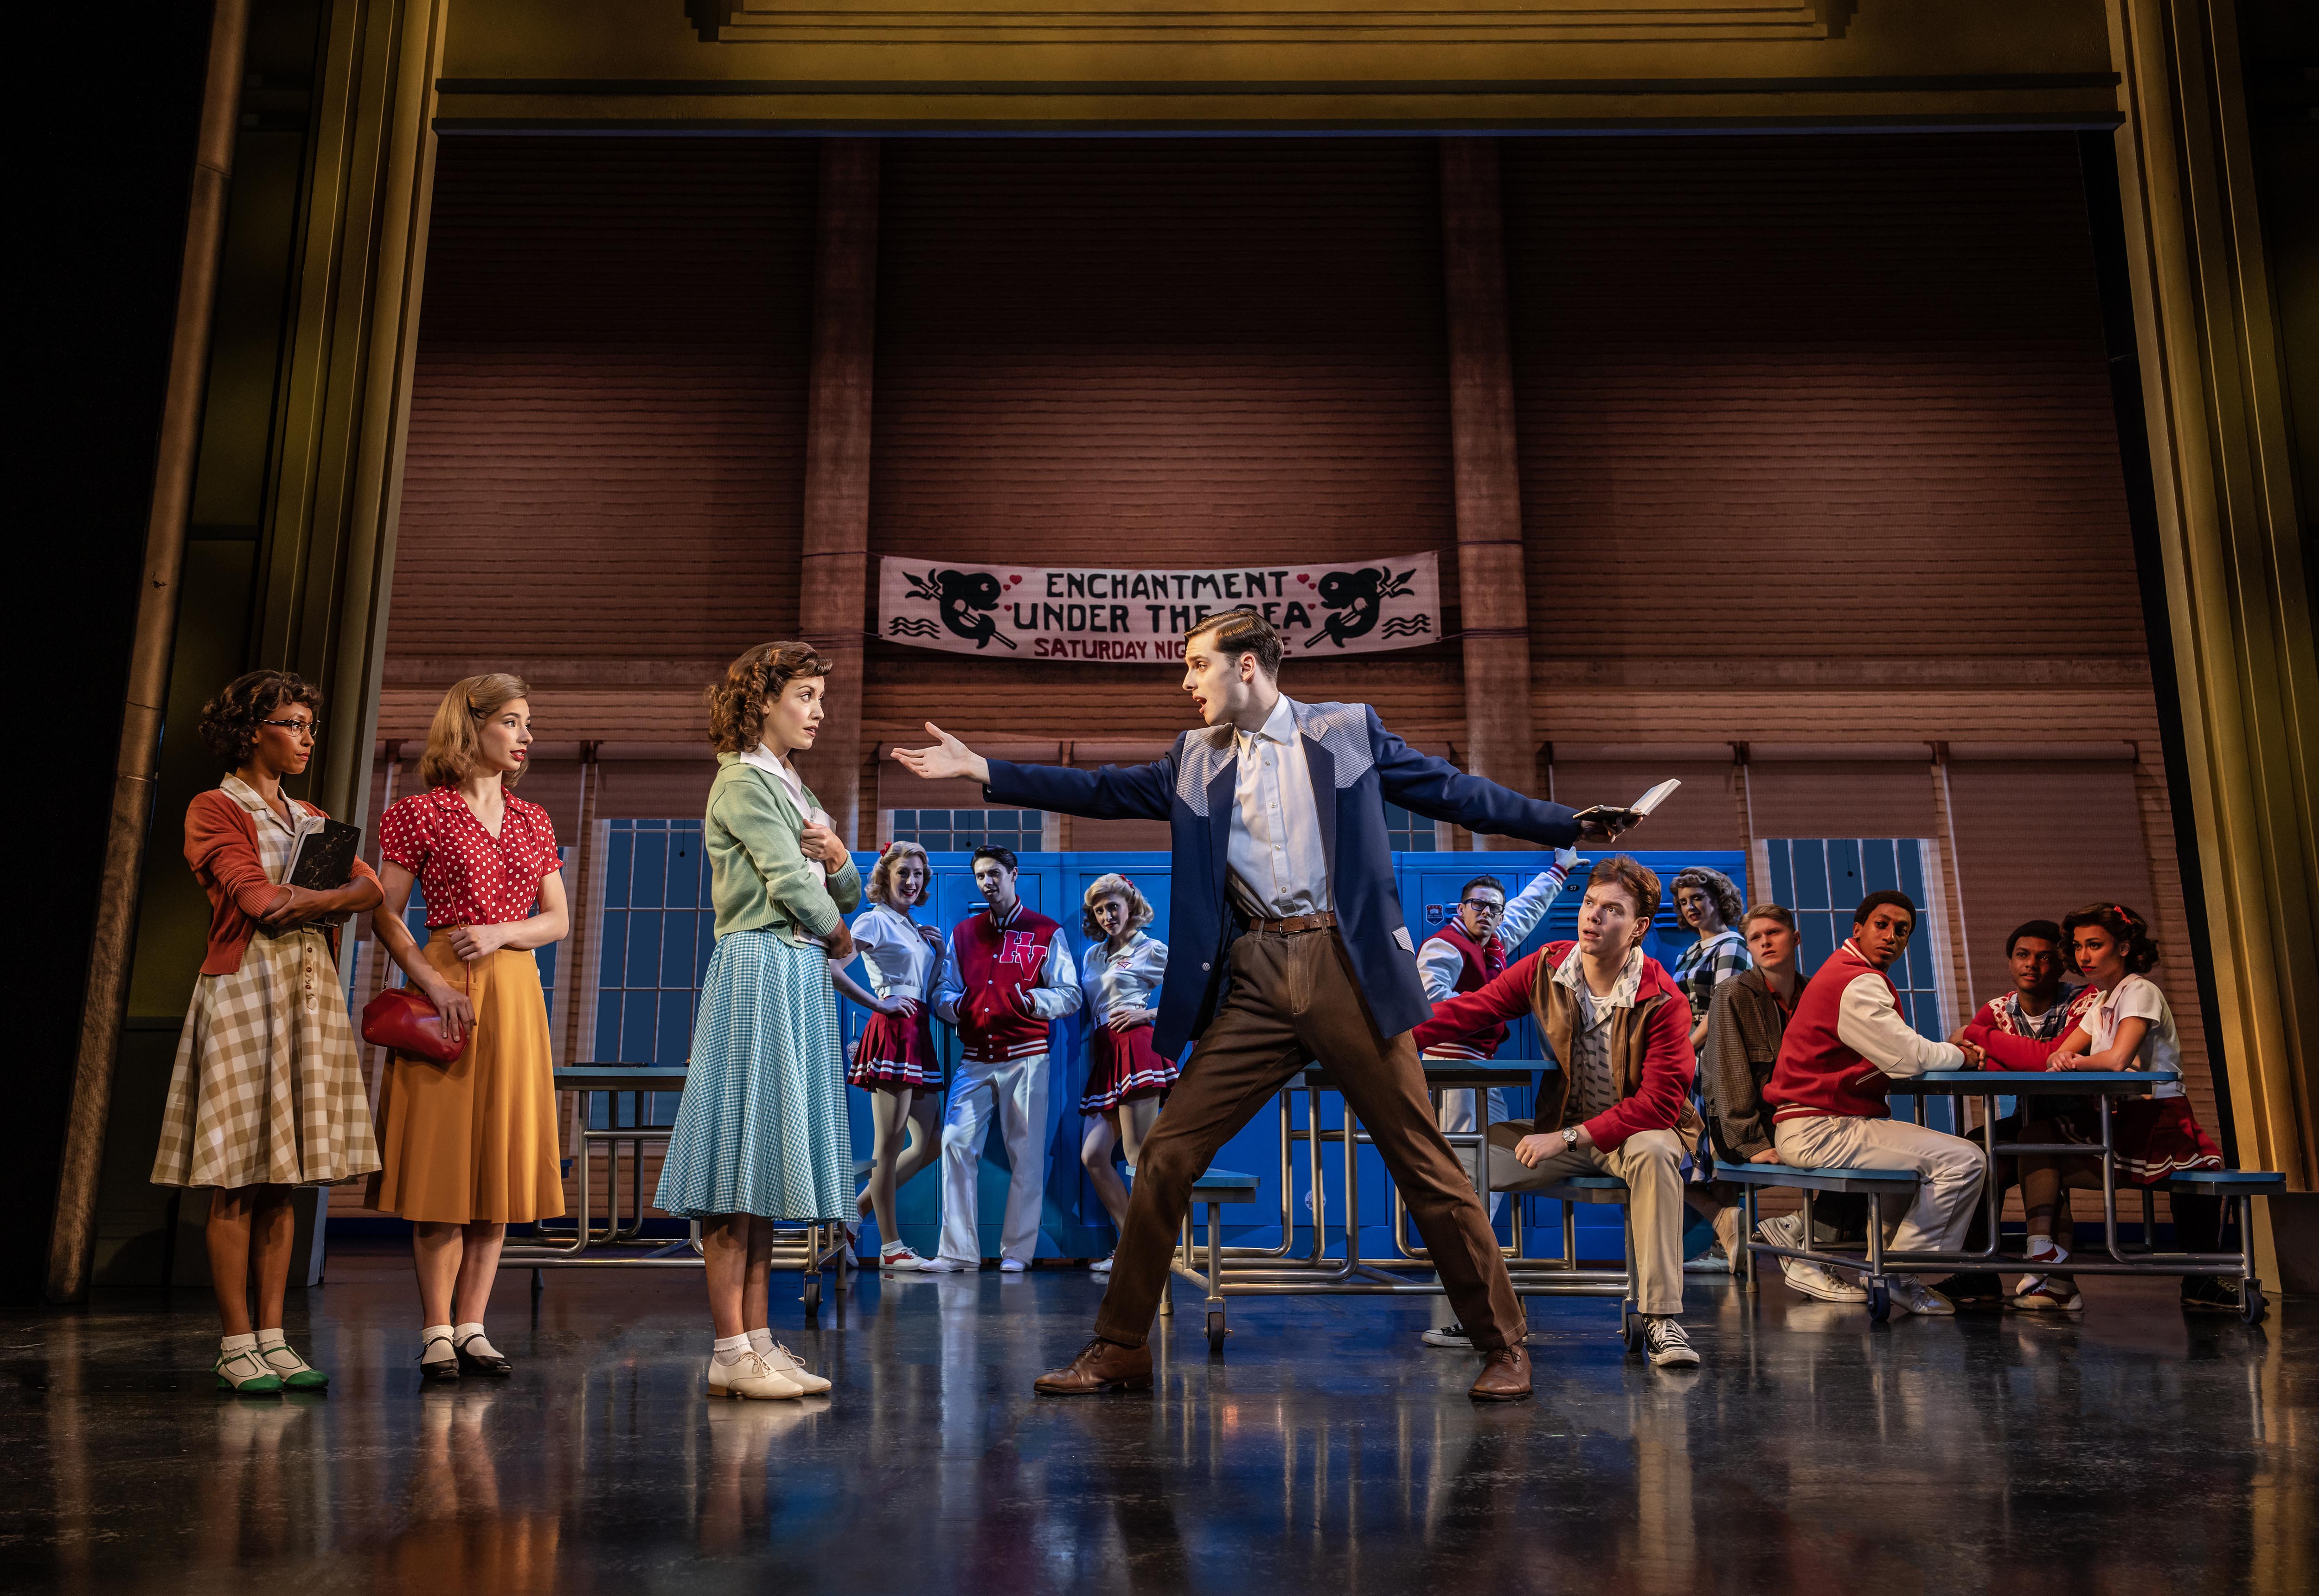
[[[1892,1118],[1895,1079],[1932,1069],[1978,1069],[1980,1049],[1920,1037],[1899,1016],[1899,988],[1885,974],[1915,933],[1909,893],[1869,893],[1853,909],[1853,935],[1811,977],[1779,1042],[1765,1100],[1772,1146],[1790,1169],[1913,1169],[1915,1199],[1883,1197],[1881,1220],[1895,1253],[1953,1253],[1980,1195],[1980,1148]],[[1955,1313],[1948,1297],[1913,1274],[1892,1276],[1892,1306]]]

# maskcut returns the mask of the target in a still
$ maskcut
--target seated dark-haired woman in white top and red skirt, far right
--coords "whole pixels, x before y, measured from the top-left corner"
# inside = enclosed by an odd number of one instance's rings
[[[2096,902],[2062,921],[2064,944],[2078,970],[2099,993],[2059,1046],[2029,1037],[2008,1037],[1992,1025],[1967,1028],[1994,1069],[2143,1069],[2168,1076],[2147,1097],[2120,1100],[2110,1111],[2110,1146],[2117,1174],[2133,1185],[2157,1185],[2184,1169],[2222,1169],[2222,1148],[2198,1125],[2182,1093],[2182,1037],[2173,1007],[2157,981],[2147,977],[2159,963],[2157,942],[2140,914],[2120,902]],[[2073,1123],[2031,1125],[2031,1141],[2059,1134],[2066,1141],[2094,1139],[2099,1130]],[[2031,1264],[2059,1264],[2069,1248],[2052,1232],[2062,1188],[2101,1190],[2101,1167],[2092,1158],[2069,1153],[2024,1153],[2020,1160],[2022,1206],[2027,1211]],[[2222,1243],[2222,1204],[2210,1199],[2173,1199],[2175,1232],[2184,1248],[2212,1250]],[[2184,1301],[2196,1299],[2196,1281],[2184,1281]],[[2064,1274],[2038,1271],[2022,1281],[2013,1297],[2018,1308],[2076,1313],[2082,1308],[2076,1285]]]

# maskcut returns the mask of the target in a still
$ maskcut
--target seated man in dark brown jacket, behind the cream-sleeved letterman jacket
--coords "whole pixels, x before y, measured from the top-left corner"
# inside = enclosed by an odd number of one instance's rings
[[[1707,1046],[1700,1053],[1700,1083],[1707,1088],[1707,1137],[1716,1158],[1725,1165],[1776,1165],[1779,1148],[1772,1146],[1772,1107],[1762,1100],[1762,1088],[1772,1081],[1772,1065],[1779,1062],[1779,1042],[1788,1035],[1788,1018],[1804,1000],[1807,977],[1797,963],[1802,940],[1795,935],[1795,914],[1783,905],[1760,902],[1739,921],[1746,951],[1755,960],[1746,970],[1716,988],[1707,1004]],[[1867,1234],[1867,1197],[1827,1195],[1813,1204],[1823,1243],[1858,1241]],[[1737,1267],[1739,1260],[1739,1209],[1728,1206],[1716,1213],[1716,1234],[1723,1250]],[[1762,1220],[1755,1234],[1783,1248],[1804,1246],[1804,1213],[1781,1213]],[[1804,1297],[1820,1301],[1867,1301],[1869,1294],[1820,1264],[1802,1257],[1779,1260],[1788,1285]]]

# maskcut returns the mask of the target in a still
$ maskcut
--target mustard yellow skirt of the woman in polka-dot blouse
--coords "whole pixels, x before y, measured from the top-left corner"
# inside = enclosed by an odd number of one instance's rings
[[[564,1162],[538,960],[499,949],[466,965],[445,933],[422,953],[475,1004],[475,1030],[448,1065],[387,1055],[369,1206],[436,1225],[557,1218]]]

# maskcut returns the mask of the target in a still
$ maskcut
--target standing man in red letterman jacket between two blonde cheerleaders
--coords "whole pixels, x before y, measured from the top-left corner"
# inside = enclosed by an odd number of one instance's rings
[[[1009,849],[974,849],[974,884],[986,907],[951,928],[951,958],[935,993],[935,1016],[958,1028],[960,1058],[942,1123],[942,1253],[925,1269],[983,1267],[974,1188],[995,1111],[1013,1165],[999,1269],[1023,1274],[1039,1248],[1046,1192],[1048,1021],[1078,1007],[1078,970],[1062,926],[1016,895]]]

